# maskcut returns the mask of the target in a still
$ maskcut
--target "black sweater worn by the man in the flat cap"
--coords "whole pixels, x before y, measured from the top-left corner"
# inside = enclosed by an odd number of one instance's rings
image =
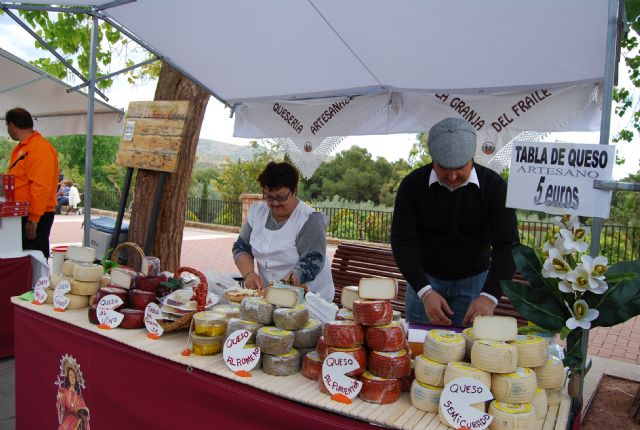
[[[511,279],[511,255],[518,242],[515,210],[506,208],[506,182],[474,163],[480,188],[468,184],[449,191],[429,187],[431,164],[409,173],[400,183],[393,211],[391,247],[404,278],[419,291],[429,273],[460,279],[489,269],[483,292],[500,298],[499,281]]]

